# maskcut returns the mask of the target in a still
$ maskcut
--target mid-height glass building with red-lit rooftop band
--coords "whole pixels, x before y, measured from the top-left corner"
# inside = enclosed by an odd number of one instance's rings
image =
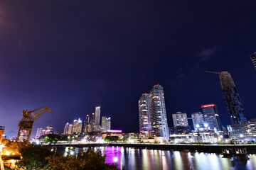
[[[207,127],[210,130],[220,131],[222,127],[220,125],[217,106],[215,104],[207,104],[201,106],[201,108],[203,108],[203,118]]]

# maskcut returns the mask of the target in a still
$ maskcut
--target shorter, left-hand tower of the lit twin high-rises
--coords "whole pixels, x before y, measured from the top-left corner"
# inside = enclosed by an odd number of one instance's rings
[[[151,137],[149,114],[149,94],[142,94],[139,98],[139,132],[142,137]]]

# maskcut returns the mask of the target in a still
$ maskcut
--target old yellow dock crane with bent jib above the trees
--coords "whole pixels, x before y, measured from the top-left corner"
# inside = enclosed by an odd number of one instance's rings
[[[36,113],[36,111],[39,111]],[[48,107],[38,108],[33,111],[23,110],[23,118],[18,123],[18,136],[17,141],[29,140],[32,132],[33,123],[41,116],[43,113],[49,111],[53,113]]]

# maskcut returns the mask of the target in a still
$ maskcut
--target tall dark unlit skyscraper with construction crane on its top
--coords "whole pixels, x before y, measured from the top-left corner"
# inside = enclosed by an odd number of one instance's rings
[[[228,72],[221,72],[219,77],[225,104],[228,108],[228,113],[230,114],[231,124],[238,124],[240,121],[246,121],[238,89],[235,87],[231,75]]]

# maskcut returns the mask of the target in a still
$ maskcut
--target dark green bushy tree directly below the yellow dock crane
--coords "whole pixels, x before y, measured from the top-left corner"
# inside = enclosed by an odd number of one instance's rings
[[[48,167],[46,157],[53,155],[50,148],[43,145],[31,145],[26,142],[21,142],[18,145],[18,151],[21,153],[21,161],[17,166],[22,169],[43,169]]]

